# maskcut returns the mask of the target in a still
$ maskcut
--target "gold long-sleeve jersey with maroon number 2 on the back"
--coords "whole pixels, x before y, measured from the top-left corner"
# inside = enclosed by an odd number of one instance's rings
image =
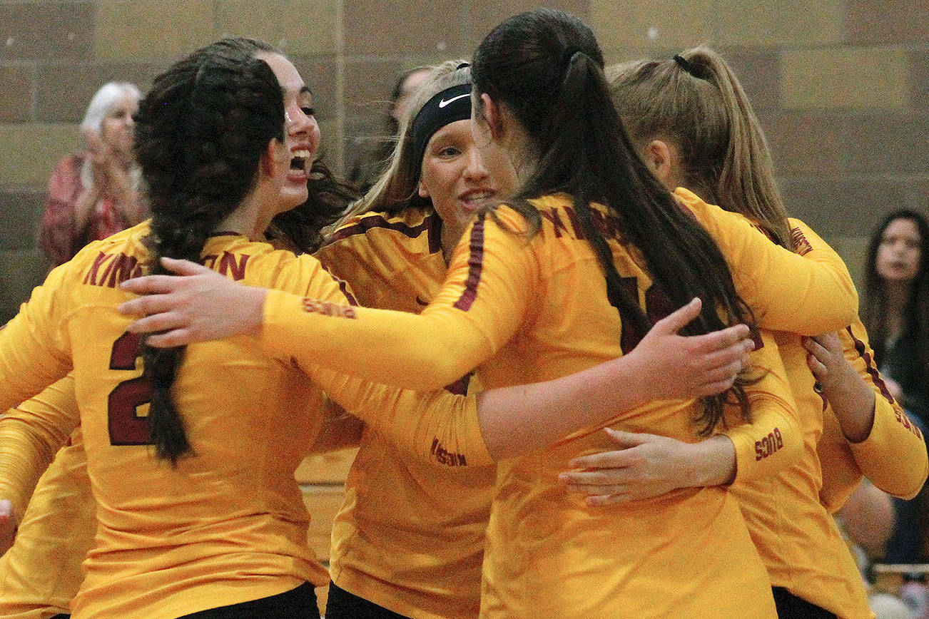
[[[490,462],[473,402],[464,397],[402,393],[312,364],[299,368],[268,358],[250,338],[188,347],[174,393],[193,456],[181,458],[177,468],[154,458],[146,445],[149,391],[139,340],[125,332],[131,318],[115,310],[128,297],[118,284],[142,272],[147,232],[143,224],[89,245],[53,271],[0,331],[0,406],[20,402],[74,368],[79,419],[60,410],[36,416],[13,409],[0,425],[21,436],[28,423],[49,445],[60,445],[81,425],[98,535],[73,600],[76,616],[174,617],[274,595],[304,581],[323,584],[328,574],[307,548],[308,515],[294,482],[294,469],[319,430],[321,388],[347,409],[373,411],[366,421],[396,432],[401,445],[421,445],[411,451],[423,458],[441,456],[430,451],[439,441],[461,455],[456,464],[464,458]],[[244,283],[310,293],[332,306],[346,303],[340,284],[316,259],[267,243],[218,235],[204,247],[203,262]],[[411,425],[417,406],[438,406],[447,415],[440,425],[460,425],[463,430],[451,433],[464,440],[456,443],[428,423]],[[17,448],[0,452],[0,493],[22,513],[17,480],[28,478],[35,449],[15,439],[11,444]]]

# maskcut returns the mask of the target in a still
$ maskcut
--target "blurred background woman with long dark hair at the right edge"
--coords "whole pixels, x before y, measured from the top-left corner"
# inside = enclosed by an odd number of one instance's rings
[[[923,436],[929,427],[929,226],[922,213],[888,214],[870,239],[862,317],[888,391]],[[929,501],[923,487],[905,501],[894,498],[896,525],[884,561],[926,560]]]

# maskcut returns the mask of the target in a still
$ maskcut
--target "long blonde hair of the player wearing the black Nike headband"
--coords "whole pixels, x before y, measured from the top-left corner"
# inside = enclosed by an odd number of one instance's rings
[[[432,208],[432,201],[417,192],[423,161],[413,161],[411,124],[425,103],[441,91],[458,84],[471,83],[471,71],[464,60],[447,60],[430,68],[423,84],[413,93],[410,105],[400,119],[397,146],[384,174],[338,225],[358,213],[399,213],[407,208]]]

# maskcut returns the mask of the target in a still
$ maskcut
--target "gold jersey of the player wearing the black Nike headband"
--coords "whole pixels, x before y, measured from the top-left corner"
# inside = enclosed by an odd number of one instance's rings
[[[316,256],[361,305],[419,313],[445,279],[440,231],[431,209],[363,213]],[[465,377],[447,389],[474,384]],[[415,619],[477,617],[495,474],[494,466],[437,469],[366,425],[335,517],[334,583]]]

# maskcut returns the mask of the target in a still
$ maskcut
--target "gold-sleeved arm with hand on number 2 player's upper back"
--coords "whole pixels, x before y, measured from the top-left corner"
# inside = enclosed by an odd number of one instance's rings
[[[440,389],[503,346],[539,290],[532,243],[523,235],[502,229],[491,217],[479,219],[465,235],[472,242],[466,238],[458,245],[443,289],[419,316],[281,290],[230,287],[192,264],[182,268],[193,277],[124,282],[124,290],[166,293],[124,303],[121,311],[146,315],[131,330],[167,331],[150,336],[154,346],[253,332],[270,355],[294,358],[304,367],[320,365],[410,389]]]

